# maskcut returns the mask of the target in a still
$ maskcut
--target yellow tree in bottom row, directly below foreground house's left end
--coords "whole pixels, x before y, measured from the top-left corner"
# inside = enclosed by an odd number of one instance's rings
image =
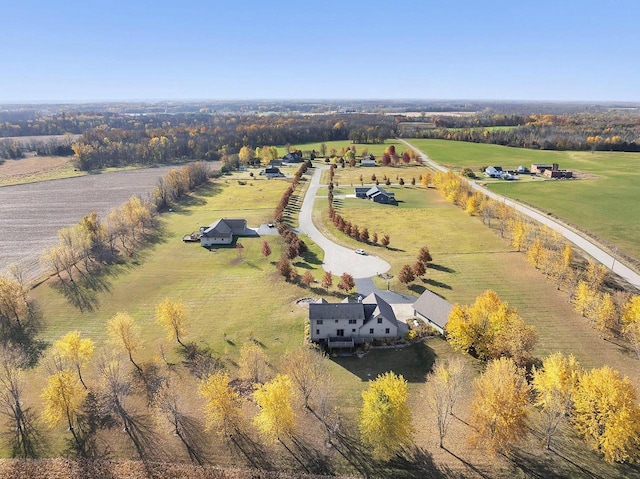
[[[253,399],[260,412],[253,423],[267,441],[282,441],[293,435],[296,427],[294,397],[293,383],[285,374],[278,374],[273,380],[256,388]]]

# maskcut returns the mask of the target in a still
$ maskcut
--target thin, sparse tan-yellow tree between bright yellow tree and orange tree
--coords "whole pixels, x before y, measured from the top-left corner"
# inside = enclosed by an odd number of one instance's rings
[[[444,447],[443,441],[453,417],[453,407],[462,394],[464,382],[464,363],[458,357],[448,362],[436,360],[432,371],[427,375],[424,390],[427,403],[436,414],[440,447]]]

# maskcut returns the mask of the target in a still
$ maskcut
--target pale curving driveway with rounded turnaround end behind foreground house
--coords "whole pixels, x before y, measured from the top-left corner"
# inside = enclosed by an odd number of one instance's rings
[[[320,233],[313,224],[313,205],[320,187],[320,176],[327,168],[326,166],[314,168],[311,183],[300,208],[300,231],[309,236],[324,251],[322,267],[325,271],[331,271],[338,276],[349,273],[354,278],[370,278],[388,271],[390,266],[386,261],[369,254],[359,255],[355,250],[337,245]]]

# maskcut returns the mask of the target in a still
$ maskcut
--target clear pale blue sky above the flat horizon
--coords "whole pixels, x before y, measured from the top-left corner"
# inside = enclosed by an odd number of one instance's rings
[[[640,101],[640,2],[2,0],[0,101]]]

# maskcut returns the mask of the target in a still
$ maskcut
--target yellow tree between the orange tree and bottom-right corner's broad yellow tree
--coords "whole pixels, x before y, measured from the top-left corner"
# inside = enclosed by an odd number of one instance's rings
[[[573,391],[578,384],[580,366],[576,358],[562,353],[552,354],[533,369],[535,406],[542,413],[545,447],[551,449],[551,440],[558,427],[567,420],[573,408]]]

